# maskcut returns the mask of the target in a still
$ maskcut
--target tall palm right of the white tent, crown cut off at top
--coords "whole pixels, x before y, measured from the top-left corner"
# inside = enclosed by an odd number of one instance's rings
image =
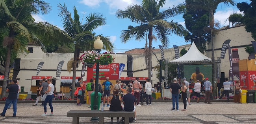
[[[236,2],[234,0],[194,0],[193,4],[188,5],[189,7],[192,7],[195,10],[205,10],[208,11],[209,16],[209,23],[210,23],[210,30],[211,30],[211,60],[212,60],[212,80],[215,81],[215,57],[214,57],[214,44],[213,44],[213,36],[214,34],[214,25],[216,24],[214,22],[214,11],[217,9],[217,6],[219,4],[225,4],[229,6],[235,5]],[[213,95],[215,95],[215,86],[213,87]]]

